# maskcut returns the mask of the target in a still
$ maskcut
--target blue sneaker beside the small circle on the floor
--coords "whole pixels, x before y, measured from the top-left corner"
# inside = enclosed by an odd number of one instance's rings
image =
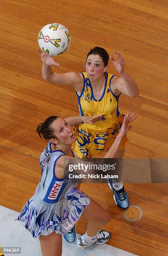
[[[113,187],[112,179],[107,179],[107,184],[113,190],[113,198],[116,205],[118,205],[122,209],[126,209],[129,207],[129,198],[124,190],[124,186],[120,190],[116,190]]]

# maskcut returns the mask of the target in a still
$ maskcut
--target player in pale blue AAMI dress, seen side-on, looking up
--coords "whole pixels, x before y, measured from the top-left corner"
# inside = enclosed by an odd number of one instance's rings
[[[135,118],[135,114],[126,115],[120,133],[105,157],[116,156],[123,137],[132,127],[128,123]],[[89,221],[86,233],[76,240],[78,247],[103,244],[110,239],[110,233],[101,230],[111,220],[109,212],[64,177],[65,158],[74,158],[71,144],[75,137],[71,125],[81,121],[93,123],[95,119],[76,117],[64,120],[52,116],[37,126],[37,133],[48,141],[40,156],[42,175],[35,194],[22,208],[17,220],[34,238],[40,238],[42,255],[45,256],[62,255],[61,235],[71,230],[81,215]]]

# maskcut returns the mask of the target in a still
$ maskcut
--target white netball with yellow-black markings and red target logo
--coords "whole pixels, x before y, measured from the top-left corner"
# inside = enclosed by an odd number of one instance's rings
[[[38,44],[42,51],[51,56],[63,54],[71,42],[69,30],[59,23],[49,23],[39,32]]]

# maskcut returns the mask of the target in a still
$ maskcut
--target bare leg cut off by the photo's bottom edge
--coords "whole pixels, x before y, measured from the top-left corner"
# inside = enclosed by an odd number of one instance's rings
[[[48,236],[40,236],[40,246],[42,256],[61,256],[62,255],[62,236],[51,233]]]

